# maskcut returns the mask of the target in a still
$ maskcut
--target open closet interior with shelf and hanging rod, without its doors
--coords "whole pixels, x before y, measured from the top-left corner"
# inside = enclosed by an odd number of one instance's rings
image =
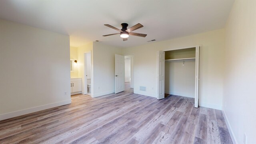
[[[165,52],[164,92],[178,96],[195,96],[196,48]]]

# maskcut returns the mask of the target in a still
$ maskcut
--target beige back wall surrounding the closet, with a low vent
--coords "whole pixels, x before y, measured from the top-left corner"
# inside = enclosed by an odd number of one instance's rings
[[[134,92],[156,97],[157,51],[202,45],[200,49],[199,105],[222,109],[225,30],[214,30],[192,36],[124,48],[123,54],[134,54]],[[146,92],[139,90],[146,86]]]

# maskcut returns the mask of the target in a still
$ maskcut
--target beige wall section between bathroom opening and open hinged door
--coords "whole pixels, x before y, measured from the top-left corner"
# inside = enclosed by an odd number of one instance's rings
[[[115,54],[122,54],[122,48],[93,42],[93,97],[114,92]]]

